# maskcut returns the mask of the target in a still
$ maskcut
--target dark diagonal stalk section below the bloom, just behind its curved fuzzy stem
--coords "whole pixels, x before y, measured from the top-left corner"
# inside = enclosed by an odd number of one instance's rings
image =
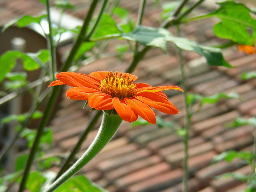
[[[76,155],[76,153],[81,148],[81,145],[84,142],[84,140],[86,139],[88,133],[92,130],[92,128],[98,122],[98,119],[101,116],[101,114],[102,114],[102,111],[95,111],[94,116],[91,118],[91,121],[87,125],[84,132],[82,132],[82,134],[80,135],[80,138],[79,138],[78,142],[76,143],[75,147],[71,150],[71,153],[69,154],[68,158],[65,159],[65,161],[62,163],[60,171],[56,175],[54,181],[57,180],[61,176],[61,174],[68,169],[69,163],[73,160],[74,156]]]

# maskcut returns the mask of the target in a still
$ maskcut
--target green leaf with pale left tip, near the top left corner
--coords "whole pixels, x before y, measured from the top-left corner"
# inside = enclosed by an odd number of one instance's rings
[[[2,28],[2,32],[4,32],[7,28],[11,27],[15,23],[17,23],[17,26],[19,28],[27,27],[28,25],[30,25],[32,23],[37,23],[40,25],[41,20],[43,20],[44,18],[47,18],[47,15],[41,15],[38,17],[32,17],[30,15],[25,15],[19,19],[11,20],[8,23],[6,23],[4,25],[4,27]]]

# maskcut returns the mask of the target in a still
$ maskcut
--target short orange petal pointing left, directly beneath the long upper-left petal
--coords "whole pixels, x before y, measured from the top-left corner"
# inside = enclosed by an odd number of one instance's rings
[[[74,87],[67,91],[66,95],[72,100],[88,100],[91,93],[100,92],[100,90],[88,88],[88,87]]]

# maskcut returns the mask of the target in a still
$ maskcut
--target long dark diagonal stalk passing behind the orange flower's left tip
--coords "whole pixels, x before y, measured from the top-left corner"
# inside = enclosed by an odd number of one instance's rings
[[[68,68],[72,64],[72,61],[73,61],[73,59],[74,59],[74,57],[76,55],[77,50],[79,49],[79,47],[83,43],[83,37],[84,37],[84,35],[86,33],[86,30],[88,28],[89,22],[92,19],[92,14],[93,14],[93,12],[94,12],[94,10],[96,8],[97,3],[98,3],[98,0],[93,0],[92,1],[92,4],[91,4],[90,9],[88,11],[88,14],[87,14],[87,16],[86,16],[86,18],[84,20],[84,24],[83,24],[83,26],[81,28],[81,31],[80,31],[77,39],[76,39],[76,43],[74,44],[71,52],[69,53],[68,59],[65,62],[64,66],[62,68],[62,71],[68,70]],[[36,133],[36,138],[34,140],[34,143],[33,143],[33,146],[31,148],[30,154],[28,156],[27,164],[26,164],[26,167],[25,167],[25,170],[24,170],[24,174],[23,174],[21,183],[20,183],[19,192],[23,192],[24,189],[25,189],[25,185],[26,185],[26,182],[27,182],[27,179],[28,179],[29,170],[30,170],[30,167],[31,167],[31,165],[33,163],[33,160],[35,158],[40,138],[41,138],[41,136],[43,134],[44,127],[49,122],[49,118],[50,118],[51,113],[52,113],[52,108],[53,108],[54,103],[55,103],[55,101],[57,99],[57,96],[58,96],[58,94],[60,92],[60,88],[61,88],[60,86],[53,87],[51,97],[48,100],[48,103],[46,105],[44,115],[42,117],[41,123],[40,123],[39,128],[38,128],[37,133]]]

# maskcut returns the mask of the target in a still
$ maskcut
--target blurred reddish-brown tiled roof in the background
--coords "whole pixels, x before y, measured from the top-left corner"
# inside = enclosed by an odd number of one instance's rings
[[[71,2],[79,5],[72,14],[83,18],[86,8],[83,5],[84,1],[72,0]],[[153,7],[153,1],[149,2],[143,24],[158,26],[157,18],[161,10]],[[121,1],[121,5],[128,8],[134,18],[136,18],[138,4],[137,0]],[[12,14],[5,13],[10,19],[24,13],[34,14],[42,9],[42,6],[35,4],[32,0],[1,1],[0,5],[2,9],[6,6],[12,11]],[[33,9],[28,8],[32,5]],[[200,9],[197,12],[204,11]],[[197,40],[202,44],[222,42],[210,30],[213,23],[214,20],[208,19],[183,25],[182,36]],[[113,48],[109,47],[109,50]],[[229,129],[224,124],[232,121],[236,116],[249,117],[256,114],[256,81],[239,79],[242,72],[256,69],[256,56],[247,56],[238,52],[236,47],[229,48],[224,51],[224,57],[235,68],[228,69],[210,67],[202,57],[193,52],[184,51],[184,56],[189,92],[202,95],[236,92],[243,98],[243,101],[230,99],[222,100],[214,105],[205,105],[193,116],[189,141],[189,192],[242,190],[245,185],[240,181],[230,178],[214,180],[214,177],[230,171],[248,174],[251,171],[249,166],[239,161],[219,162],[213,165],[210,165],[210,162],[213,156],[223,151],[252,150],[252,127]],[[97,70],[124,71],[130,60],[129,54],[125,55],[122,61],[116,57],[101,59],[80,68],[79,71],[85,74]],[[179,86],[179,73],[178,61],[173,48],[169,48],[166,55],[160,49],[150,50],[133,72],[134,75],[139,76],[137,82],[146,82],[152,86],[170,84]],[[162,116],[166,121],[175,121],[176,124],[182,126],[184,124],[182,95],[175,90],[165,91],[165,93],[170,101],[180,109],[180,113],[170,116],[156,111],[156,115]],[[75,145],[79,133],[86,128],[93,113],[89,112],[88,108],[80,110],[79,108],[83,105],[82,101],[68,100],[63,93],[60,109],[51,122],[54,131],[52,150],[68,152]],[[93,140],[97,127],[84,141],[79,156]],[[90,179],[111,192],[180,192],[182,159],[182,143],[169,129],[159,129],[156,125],[149,125],[130,130],[130,124],[124,122],[114,139],[80,173],[85,173]],[[57,171],[58,168],[53,167],[52,170]]]

